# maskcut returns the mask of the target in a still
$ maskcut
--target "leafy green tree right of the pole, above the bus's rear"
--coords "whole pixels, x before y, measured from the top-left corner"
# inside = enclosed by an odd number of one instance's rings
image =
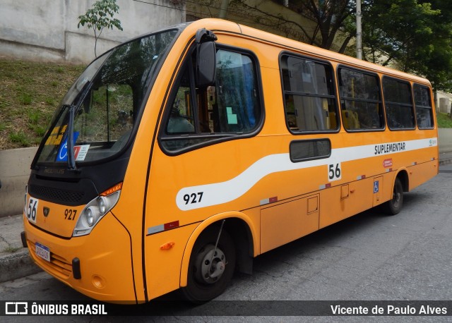
[[[364,1],[364,59],[429,78],[436,90],[450,90],[452,6],[436,2]]]

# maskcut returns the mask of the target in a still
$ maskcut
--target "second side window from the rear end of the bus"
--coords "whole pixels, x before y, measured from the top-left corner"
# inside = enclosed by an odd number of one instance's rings
[[[414,129],[415,114],[412,106],[410,83],[383,78],[386,119],[391,130]]]

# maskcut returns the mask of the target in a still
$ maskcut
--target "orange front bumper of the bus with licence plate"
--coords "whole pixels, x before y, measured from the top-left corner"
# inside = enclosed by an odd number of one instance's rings
[[[26,217],[23,224],[30,256],[45,272],[90,298],[136,303],[131,238],[111,213],[80,237],[54,236],[32,226]]]

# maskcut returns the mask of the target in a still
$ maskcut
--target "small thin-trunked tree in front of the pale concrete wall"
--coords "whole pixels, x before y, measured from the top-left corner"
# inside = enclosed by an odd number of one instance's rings
[[[113,18],[114,13],[118,13],[119,6],[116,3],[116,0],[97,0],[93,4],[93,8],[88,9],[86,13],[82,16],[78,16],[78,25],[86,26],[89,28],[93,28],[95,43],[94,43],[94,54],[97,57],[96,49],[97,49],[97,39],[99,39],[100,34],[104,28],[113,29],[114,27],[119,30],[123,30],[121,27],[121,21],[117,18]]]

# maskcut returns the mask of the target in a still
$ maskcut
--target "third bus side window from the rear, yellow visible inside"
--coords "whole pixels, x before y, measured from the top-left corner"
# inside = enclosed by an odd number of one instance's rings
[[[347,130],[384,128],[379,79],[374,74],[339,68],[339,93],[343,126]]]

